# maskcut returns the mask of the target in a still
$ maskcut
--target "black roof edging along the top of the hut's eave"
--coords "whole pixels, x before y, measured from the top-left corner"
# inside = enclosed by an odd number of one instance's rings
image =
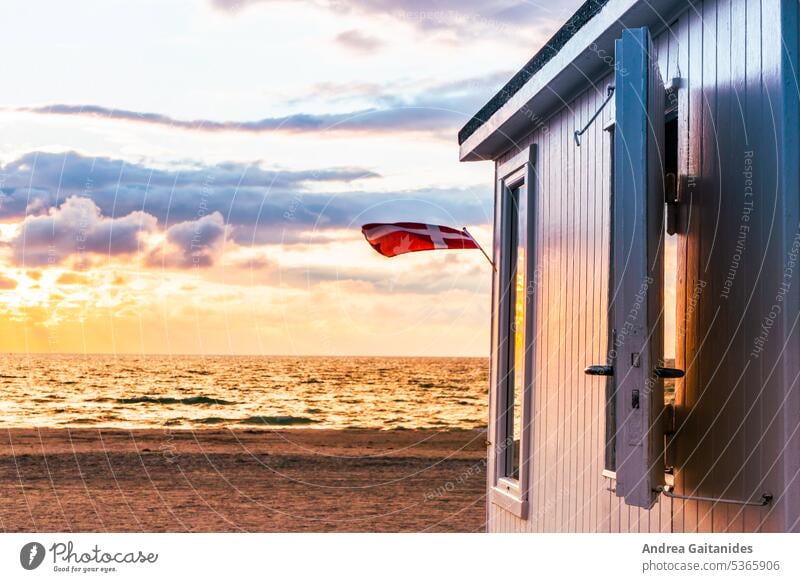
[[[583,28],[594,16],[608,4],[609,0],[586,0],[577,12],[547,41],[541,50],[536,53],[528,63],[522,67],[500,91],[483,107],[467,124],[458,132],[458,144],[461,145],[467,138],[475,133],[478,128],[486,123],[500,108],[505,105],[539,69],[545,66],[550,59],[567,44],[575,34]]]

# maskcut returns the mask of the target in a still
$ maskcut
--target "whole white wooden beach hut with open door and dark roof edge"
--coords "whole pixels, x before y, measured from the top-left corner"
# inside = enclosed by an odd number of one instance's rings
[[[795,0],[590,0],[495,167],[489,531],[800,531]]]

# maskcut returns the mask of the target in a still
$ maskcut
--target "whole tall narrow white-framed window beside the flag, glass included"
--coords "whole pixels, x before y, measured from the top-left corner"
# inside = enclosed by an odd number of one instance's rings
[[[533,330],[531,146],[498,167],[495,222],[492,388],[494,486],[491,499],[526,517],[531,429]]]

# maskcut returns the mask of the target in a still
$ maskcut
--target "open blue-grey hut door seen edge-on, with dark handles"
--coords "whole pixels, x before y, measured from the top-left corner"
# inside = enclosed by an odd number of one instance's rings
[[[664,483],[664,103],[647,28],[616,41],[610,322],[617,495],[650,508]]]

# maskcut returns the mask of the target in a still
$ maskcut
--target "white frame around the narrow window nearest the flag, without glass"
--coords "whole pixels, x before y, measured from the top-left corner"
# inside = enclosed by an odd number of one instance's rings
[[[492,483],[489,489],[491,503],[502,507],[513,515],[527,519],[528,516],[528,493],[530,488],[530,466],[532,450],[532,402],[533,402],[533,373],[532,373],[532,342],[534,329],[534,301],[529,294],[530,283],[534,273],[533,263],[535,261],[534,252],[534,216],[536,205],[536,181],[534,163],[536,159],[536,146],[531,145],[520,151],[508,161],[499,165],[497,168],[497,182],[495,194],[495,281],[493,285],[493,346],[494,359],[492,362],[492,426],[493,434],[490,435],[493,443],[490,453],[492,463]],[[508,398],[508,378],[510,350],[513,350],[513,339],[511,338],[511,308],[509,305],[509,294],[507,289],[511,281],[509,279],[511,269],[508,261],[510,248],[510,235],[512,226],[510,223],[513,214],[510,212],[511,191],[519,185],[524,185],[526,204],[526,228],[527,228],[527,247],[525,261],[525,330],[524,344],[525,351],[523,357],[523,390],[521,405],[521,430],[519,445],[519,479],[513,479],[507,475],[507,455],[508,455],[508,435],[505,434],[507,424],[503,419],[503,414],[507,410]],[[520,365],[518,362],[515,366]],[[512,437],[513,438],[513,437]]]

